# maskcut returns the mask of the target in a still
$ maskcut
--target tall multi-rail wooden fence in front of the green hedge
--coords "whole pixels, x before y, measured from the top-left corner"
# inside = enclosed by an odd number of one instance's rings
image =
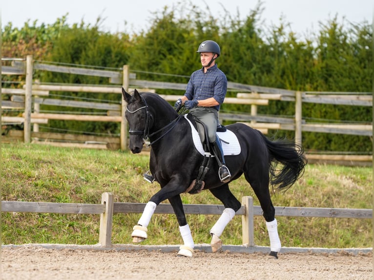
[[[122,71],[94,70],[79,67],[56,66],[44,63],[34,63],[32,56],[27,56],[25,61],[15,60],[14,66],[3,66],[2,75],[25,75],[25,86],[23,89],[2,88],[2,93],[11,94],[11,100],[3,100],[1,108],[24,109],[22,116],[2,116],[2,123],[23,123],[23,134],[11,132],[9,137],[3,137],[3,141],[19,139],[30,142],[32,139],[44,144],[62,146],[97,147],[109,149],[127,149],[127,122],[125,120],[125,101],[121,96],[121,87],[127,91],[134,88],[141,91],[155,92],[157,89],[184,90],[186,84],[161,81],[136,80],[136,76],[129,73],[128,65],[124,65]],[[70,73],[76,75],[89,75],[107,77],[109,83],[117,85],[67,85],[67,84],[38,84],[33,81],[34,70]],[[120,85],[118,85],[120,84]],[[295,131],[295,141],[302,142],[302,131],[316,133],[334,133],[348,135],[362,135],[373,138],[373,123],[310,123],[302,118],[302,103],[324,103],[354,106],[372,106],[372,93],[336,93],[336,92],[300,92],[285,89],[268,88],[254,85],[229,82],[230,91],[239,92],[236,97],[227,97],[227,104],[249,104],[249,114],[220,113],[221,120],[233,120],[246,123],[253,128],[268,133],[269,129]],[[49,92],[86,92],[86,93],[118,93],[121,103],[99,103],[88,101],[57,100],[48,98]],[[175,101],[181,95],[162,95],[167,101]],[[295,102],[295,115],[290,117],[258,116],[257,106],[267,105],[270,100]],[[56,114],[40,113],[40,105],[55,105],[62,107],[92,108],[106,112],[105,116],[78,115],[78,114]],[[121,122],[120,137],[89,137],[76,134],[40,133],[39,124],[47,123],[48,120],[80,120],[80,121],[105,121]],[[33,124],[33,130],[31,127]],[[59,141],[59,142],[56,142]],[[65,143],[63,143],[63,141]],[[74,142],[73,142],[74,141]],[[314,156],[311,160],[315,160]],[[367,156],[341,156],[325,155],[326,161],[355,161],[363,165],[372,162],[372,155]],[[312,162],[311,161],[311,162]]]

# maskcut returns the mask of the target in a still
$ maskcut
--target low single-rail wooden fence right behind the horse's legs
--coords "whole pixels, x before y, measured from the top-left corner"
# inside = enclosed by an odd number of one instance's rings
[[[32,213],[58,213],[58,214],[100,214],[99,243],[103,247],[112,246],[112,222],[116,213],[143,213],[145,203],[114,202],[112,193],[102,194],[101,204],[82,203],[51,203],[51,202],[25,202],[1,201],[2,212],[32,212]],[[184,204],[186,214],[195,215],[221,215],[223,205]],[[161,203],[156,207],[154,214],[173,214],[170,204]],[[260,206],[253,205],[253,198],[242,198],[242,207],[235,215],[242,216],[243,244],[254,246],[253,217],[262,216]],[[352,218],[372,219],[373,209],[347,209],[347,208],[311,208],[311,207],[282,207],[275,206],[275,216],[288,217],[318,217],[318,218]]]

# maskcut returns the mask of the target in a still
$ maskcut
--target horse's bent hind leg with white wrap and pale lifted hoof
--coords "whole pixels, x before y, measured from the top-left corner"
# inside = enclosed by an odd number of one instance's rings
[[[220,239],[222,232],[224,231],[229,221],[232,220],[232,218],[235,216],[235,212],[239,210],[241,204],[229,190],[228,184],[209,190],[225,205],[225,210],[223,211],[221,217],[210,229],[210,235],[212,236],[210,246],[212,248],[212,252],[215,253],[222,247],[222,240]]]

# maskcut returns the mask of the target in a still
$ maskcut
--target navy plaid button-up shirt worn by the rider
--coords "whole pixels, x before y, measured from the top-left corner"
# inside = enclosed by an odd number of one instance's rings
[[[188,100],[205,100],[213,97],[221,105],[225,100],[226,92],[226,75],[215,64],[208,68],[207,73],[204,73],[204,67],[202,67],[191,74],[185,96]],[[220,105],[213,108],[219,111]]]

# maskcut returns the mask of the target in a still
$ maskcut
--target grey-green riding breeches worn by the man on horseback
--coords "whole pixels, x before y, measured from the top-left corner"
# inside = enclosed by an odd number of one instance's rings
[[[218,122],[218,111],[212,107],[195,107],[189,110],[189,112],[198,120],[205,123],[208,130],[209,142],[212,143],[216,140],[216,131]],[[197,123],[199,127],[200,140],[204,142],[204,127]]]

